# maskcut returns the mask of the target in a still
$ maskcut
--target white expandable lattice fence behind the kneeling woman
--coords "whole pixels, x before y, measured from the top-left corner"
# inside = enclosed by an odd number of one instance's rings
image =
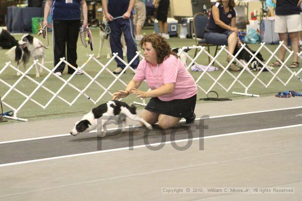
[[[234,87],[234,84],[235,83],[238,83],[241,88],[242,88],[242,92],[235,92],[233,91],[234,94],[241,94],[241,95],[249,95],[249,96],[259,96],[257,94],[249,94],[248,91],[249,89],[251,88],[251,86],[253,85],[253,83],[258,80],[265,88],[268,88],[270,86],[270,84],[272,83],[272,81],[274,79],[277,79],[278,81],[280,81],[280,83],[282,83],[284,86],[286,86],[294,77],[297,78],[299,81],[302,82],[302,80],[300,79],[300,77],[298,76],[299,73],[302,71],[302,68],[298,68],[298,71],[292,71],[291,68],[289,68],[288,66],[286,66],[286,62],[293,56],[293,51],[290,51],[284,44],[283,42],[280,42],[280,44],[278,45],[278,47],[272,52],[268,47],[265,46],[265,43],[261,43],[260,47],[258,48],[258,50],[256,51],[255,54],[253,54],[252,52],[250,52],[246,47],[246,45],[242,45],[241,49],[239,50],[239,52],[236,54],[236,55],[232,55],[230,54],[230,52],[226,49],[225,46],[221,46],[221,49],[218,51],[218,53],[215,55],[215,57],[213,57],[211,54],[209,54],[206,50],[205,50],[205,47],[203,46],[193,46],[193,47],[183,47],[181,52],[179,52],[179,55],[180,54],[185,54],[188,61],[187,61],[187,69],[189,70],[190,67],[194,64],[196,65],[199,65],[198,62],[197,62],[197,59],[201,56],[209,56],[211,58],[211,61],[210,63],[207,65],[207,67],[205,69],[202,70],[202,72],[192,72],[192,73],[199,73],[199,76],[198,78],[195,80],[198,88],[200,90],[198,90],[198,93],[202,92],[202,93],[205,93],[207,94],[209,91],[211,91],[215,86],[219,86],[221,87],[223,90],[225,90],[226,92],[229,92],[232,87]],[[287,52],[289,53],[289,55],[284,59],[284,62],[281,62],[279,60],[279,58],[277,57],[276,53],[278,52],[278,50],[280,49],[280,47],[283,46]],[[185,49],[193,49],[195,51],[195,49],[198,49],[198,53],[196,55],[195,58],[192,58],[190,57],[187,53],[185,53],[183,50]],[[238,54],[243,50],[247,50],[251,55],[252,55],[252,58],[250,59],[250,61],[248,61],[247,63],[246,62],[241,62],[240,60],[238,60],[236,57],[238,56]],[[269,59],[267,59],[264,63],[262,61],[260,61],[257,57],[256,57],[256,54],[258,52],[260,52],[261,50],[263,51],[267,51],[270,53],[270,57]],[[219,57],[221,57],[221,53],[222,52],[225,52],[226,54],[228,55],[231,55],[233,58],[232,60],[226,65],[226,66],[223,66],[218,60]],[[298,56],[300,58],[301,57],[301,54],[302,52],[300,52],[298,54]],[[2,103],[8,107],[9,109],[11,109],[13,112],[14,112],[14,116],[13,117],[9,117],[9,116],[4,116],[4,118],[9,118],[9,119],[14,119],[14,120],[20,120],[20,121],[27,121],[27,119],[21,119],[21,118],[18,118],[18,113],[22,110],[22,108],[24,108],[25,104],[28,103],[29,101],[31,101],[32,103],[34,103],[35,105],[41,107],[42,109],[46,109],[52,102],[55,98],[58,98],[60,100],[62,100],[63,103],[67,104],[68,106],[72,106],[73,104],[75,104],[77,102],[77,100],[79,99],[79,97],[81,95],[85,96],[88,101],[91,101],[93,104],[98,104],[100,102],[102,102],[102,98],[104,98],[104,95],[106,94],[109,94],[109,95],[112,95],[113,92],[115,91],[111,91],[112,90],[112,86],[114,84],[116,84],[117,82],[120,82],[123,86],[126,86],[127,83],[124,82],[122,80],[122,74],[124,71],[126,71],[128,68],[135,72],[134,69],[131,68],[131,63],[134,61],[135,58],[137,57],[140,57],[140,58],[143,58],[143,56],[140,54],[140,52],[136,52],[136,55],[135,57],[129,62],[129,63],[126,63],[125,61],[123,61],[119,56],[118,54],[113,54],[113,57],[106,63],[106,64],[102,64],[99,60],[97,60],[94,55],[89,55],[89,58],[88,60],[82,65],[80,66],[78,69],[74,68],[72,65],[70,65],[67,61],[65,61],[64,58],[61,58],[60,59],[60,62],[53,68],[53,69],[48,69],[47,67],[43,66],[41,63],[39,63],[38,60],[35,60],[34,63],[29,67],[27,68],[27,70],[25,72],[22,72],[20,70],[18,70],[14,65],[12,65],[11,62],[7,62],[6,65],[0,70],[0,76],[2,74],[4,74],[4,72],[8,69],[8,68],[12,68],[14,71],[16,72],[19,72],[21,74],[20,77],[17,78],[16,82],[14,84],[9,84],[7,81],[5,81],[4,79],[2,79],[0,77],[0,82],[4,85],[6,85],[9,89],[4,93],[4,95],[2,96]],[[122,71],[122,73],[120,73],[119,75],[115,75],[111,72],[111,70],[108,69],[108,66],[111,64],[111,65],[116,65],[115,61],[114,61],[114,58],[117,58],[119,60],[121,60],[125,65],[125,69]],[[225,56],[223,56],[223,58],[225,58]],[[261,63],[263,65],[263,67],[257,72],[253,72],[251,70],[249,70],[249,65],[251,64],[252,60],[256,58],[258,60],[259,63]],[[221,59],[220,59],[221,60]],[[224,60],[224,59],[223,59]],[[263,72],[264,68],[266,66],[269,66],[270,63],[272,63],[273,61],[275,60],[278,60],[282,65],[280,67],[278,67],[277,69],[275,70],[270,70],[268,69],[269,73],[271,73],[272,75],[272,78],[267,82],[265,83],[264,81],[267,81],[267,80],[261,80],[260,78],[260,74]],[[241,66],[243,69],[238,73],[233,73],[232,71],[229,71],[228,68],[230,67],[231,63],[233,61],[237,61],[239,63],[239,66]],[[54,71],[55,69],[59,66],[60,63],[64,62],[65,64],[67,64],[68,66],[72,67],[75,69],[75,72],[67,79],[63,79],[62,77],[59,77],[57,76],[56,74],[54,74]],[[97,64],[99,67],[100,67],[100,70],[99,72],[92,76],[90,74],[88,74],[86,71],[85,71],[85,67],[87,65],[89,65],[91,62],[94,62],[94,65]],[[215,66],[218,66],[220,68],[222,68],[222,72],[219,74],[218,77],[214,78],[212,75],[211,75],[211,72],[208,72],[207,70],[210,68],[210,66],[212,66],[213,64],[215,64]],[[35,65],[38,65],[38,66],[41,66],[46,72],[47,72],[47,75],[45,76],[45,78],[38,82],[36,81],[34,78],[31,78],[30,76],[27,75],[27,73],[32,69],[34,68]],[[83,70],[84,72],[84,76],[86,76],[90,81],[89,83],[84,87],[84,86],[81,86],[81,88],[75,86],[74,84],[71,84],[71,80],[72,79],[75,79],[74,76],[76,74],[76,72],[78,70]],[[288,71],[289,73],[289,77],[288,79],[286,80],[282,80],[279,75],[280,75],[280,71],[282,69],[286,69],[286,71]],[[191,71],[191,70],[189,70]],[[97,78],[104,74],[104,73],[107,73],[109,74],[110,76],[112,76],[112,82],[109,86],[104,86],[104,84],[102,84],[100,81],[97,81]],[[44,72],[45,73],[45,72]],[[250,74],[250,76],[253,77],[252,81],[249,83],[249,84],[244,84],[240,78],[242,77],[242,75],[244,73],[248,73]],[[220,80],[221,78],[223,78],[224,75],[228,75],[228,76],[231,76],[234,81],[229,85],[229,86],[224,86],[222,83],[220,83]],[[83,76],[83,75],[81,75]],[[205,89],[202,87],[202,83],[204,83],[204,78],[205,76],[208,76],[212,81],[213,83],[210,85],[209,88]],[[62,82],[62,86],[54,91],[54,90],[51,90],[50,88],[46,87],[45,86],[45,82],[49,79],[49,78],[56,78],[58,79],[58,81],[61,81]],[[32,83],[34,83],[36,86],[34,87],[34,89],[32,90],[32,92],[27,95],[25,94],[25,92],[23,92],[23,89],[22,87],[24,87],[24,90],[26,89],[27,86],[23,86],[22,84],[22,80],[23,79],[28,79],[30,80]],[[284,79],[284,78],[283,78]],[[97,85],[98,87],[100,87],[102,90],[104,90],[104,92],[97,98],[92,98],[92,95],[89,94],[87,91],[88,89],[91,87],[91,85],[94,84],[94,85]],[[17,89],[17,86],[18,85],[18,89]],[[20,85],[22,86],[20,88]],[[72,101],[68,101],[66,98],[62,97],[61,95],[59,95],[59,93],[62,92],[62,90],[64,89],[64,87],[66,86],[69,86],[71,87],[73,90],[77,91],[78,92],[78,95],[75,96],[75,98],[72,100]],[[38,89],[44,89],[47,93],[49,93],[51,95],[51,97],[49,98],[48,102],[45,104],[45,105],[42,105],[41,103],[39,103],[37,100],[35,100],[33,98],[33,96],[35,95],[35,93],[38,91]],[[13,103],[9,103],[9,102],[6,102],[6,98],[7,96],[12,93],[12,92],[17,92],[21,97],[25,98],[25,100],[18,106],[18,107],[13,107]],[[145,105],[145,102],[144,102],[144,99],[141,99],[141,102],[135,102],[135,104],[139,104],[139,105]]]

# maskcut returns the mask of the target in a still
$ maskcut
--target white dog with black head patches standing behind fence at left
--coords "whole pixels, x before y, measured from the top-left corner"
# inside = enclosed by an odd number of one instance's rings
[[[35,59],[41,59],[41,64],[44,65],[44,45],[37,39],[32,37],[29,34],[24,35],[18,44],[12,47],[6,55],[11,59],[17,62],[17,68],[20,69],[20,64],[23,63],[24,71],[26,70],[26,64],[29,62],[30,57]],[[37,64],[36,68],[36,77],[40,77]],[[40,67],[40,72],[43,71],[43,68]],[[21,73],[17,72],[17,75],[20,76]]]

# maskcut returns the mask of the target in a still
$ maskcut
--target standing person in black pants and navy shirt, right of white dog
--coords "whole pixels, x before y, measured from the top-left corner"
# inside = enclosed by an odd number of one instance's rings
[[[43,26],[47,25],[47,16],[51,6],[54,66],[57,65],[60,58],[65,57],[68,63],[77,68],[77,42],[81,26],[81,7],[84,17],[83,26],[87,27],[86,1],[47,0],[44,8]],[[61,63],[55,69],[55,74],[62,76],[64,68],[65,63]],[[68,66],[67,73],[72,74],[73,72],[74,69]],[[82,70],[79,70],[77,74],[83,74]]]

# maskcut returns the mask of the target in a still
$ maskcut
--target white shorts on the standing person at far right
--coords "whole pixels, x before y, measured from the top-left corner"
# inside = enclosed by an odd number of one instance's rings
[[[302,20],[300,15],[276,16],[275,32],[291,33],[302,31]]]

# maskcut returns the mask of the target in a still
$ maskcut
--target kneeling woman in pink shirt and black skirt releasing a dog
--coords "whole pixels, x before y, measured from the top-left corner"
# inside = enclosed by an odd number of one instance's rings
[[[112,99],[130,93],[137,94],[138,98],[151,97],[141,118],[149,124],[158,122],[162,129],[176,126],[181,118],[187,123],[194,122],[197,86],[192,75],[161,35],[143,37],[140,46],[145,58],[126,89],[113,93]],[[152,90],[137,89],[144,79]]]

